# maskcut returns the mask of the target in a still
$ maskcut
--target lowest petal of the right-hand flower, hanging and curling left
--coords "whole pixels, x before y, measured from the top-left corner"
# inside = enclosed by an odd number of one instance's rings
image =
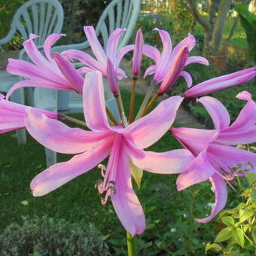
[[[211,181],[212,187],[215,190],[215,206],[213,206],[211,215],[209,215],[209,217],[196,219],[196,221],[200,223],[212,221],[212,218],[214,218],[218,212],[224,209],[227,203],[227,186],[225,181],[216,174],[212,175],[209,180]]]

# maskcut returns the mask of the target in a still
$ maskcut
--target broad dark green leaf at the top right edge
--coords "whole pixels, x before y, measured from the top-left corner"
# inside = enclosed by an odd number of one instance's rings
[[[239,13],[240,21],[243,29],[245,29],[248,46],[250,50],[249,56],[256,62],[256,15],[248,11],[246,5],[237,4],[235,10]]]

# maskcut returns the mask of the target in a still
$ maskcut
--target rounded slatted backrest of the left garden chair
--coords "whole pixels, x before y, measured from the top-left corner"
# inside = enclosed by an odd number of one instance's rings
[[[30,33],[39,35],[34,41],[41,45],[48,35],[61,32],[62,24],[63,9],[57,0],[30,0],[17,10],[11,30],[0,40],[0,45],[11,41],[16,32],[20,32],[24,41]]]

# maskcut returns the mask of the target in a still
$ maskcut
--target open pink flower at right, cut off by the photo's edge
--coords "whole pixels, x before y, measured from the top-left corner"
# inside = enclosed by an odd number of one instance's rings
[[[172,128],[173,136],[195,157],[178,176],[178,190],[208,178],[215,189],[215,206],[211,215],[197,219],[198,222],[211,221],[224,208],[227,202],[225,181],[232,181],[236,175],[256,172],[256,154],[230,146],[256,142],[256,104],[246,91],[236,97],[248,102],[230,126],[230,116],[224,105],[205,96],[199,102],[211,115],[215,130]]]

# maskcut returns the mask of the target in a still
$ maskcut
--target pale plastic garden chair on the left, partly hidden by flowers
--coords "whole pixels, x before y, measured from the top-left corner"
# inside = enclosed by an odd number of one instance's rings
[[[57,0],[30,0],[17,10],[8,35],[6,35],[5,38],[0,39],[0,46],[11,41],[17,32],[20,33],[24,41],[29,38],[30,33],[33,33],[35,35],[39,35],[39,38],[35,38],[34,41],[38,46],[38,49],[42,49],[42,44],[44,43],[45,38],[52,33],[60,33],[62,24],[63,10],[62,6]],[[29,60],[24,50],[20,50],[19,59]],[[0,91],[8,92],[11,86],[21,79],[22,78],[19,78],[17,75],[1,72]],[[11,100],[23,104],[23,90],[17,90],[14,95],[11,96]],[[44,108],[44,102],[42,100],[39,101],[36,104],[36,107]],[[51,105],[50,110],[57,111],[57,106],[53,108],[53,105]],[[25,130],[19,130],[17,133],[19,144],[25,143]],[[51,153],[47,148],[45,148],[45,151],[47,157],[47,166],[50,163],[56,162],[56,154]]]

